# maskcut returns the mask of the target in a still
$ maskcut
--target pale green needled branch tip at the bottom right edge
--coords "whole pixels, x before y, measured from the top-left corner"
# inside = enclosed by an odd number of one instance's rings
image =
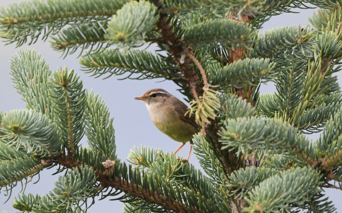
[[[293,208],[291,204],[304,206],[309,197],[318,194],[319,185],[319,174],[312,168],[297,167],[281,171],[249,192],[250,197],[246,200],[250,206],[245,212],[273,212],[275,209],[289,212]],[[287,200],[291,202],[285,205]]]

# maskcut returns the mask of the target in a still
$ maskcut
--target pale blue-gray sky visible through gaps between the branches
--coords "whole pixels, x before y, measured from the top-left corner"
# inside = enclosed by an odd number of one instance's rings
[[[10,0],[0,0],[0,5],[13,2]],[[264,24],[263,30],[283,27],[287,25],[305,26],[308,24],[308,16],[317,9],[313,10],[296,10],[301,13],[285,13],[275,17],[272,17],[267,23]],[[35,49],[41,53],[41,56],[45,58],[46,62],[50,65],[51,70],[56,70],[57,67],[68,66],[68,70],[75,69],[77,75],[83,81],[83,87],[88,90],[93,89],[95,93],[99,93],[106,105],[109,107],[111,117],[114,117],[115,139],[117,146],[118,157],[123,161],[129,154],[130,149],[135,146],[147,145],[149,147],[160,148],[164,152],[171,152],[176,150],[180,143],[168,138],[153,125],[149,118],[149,114],[145,107],[145,104],[141,101],[133,100],[134,97],[140,96],[142,93],[153,88],[162,88],[177,96],[183,100],[182,95],[176,91],[177,86],[171,81],[158,82],[160,79],[155,80],[117,80],[119,77],[112,76],[108,79],[102,80],[101,78],[88,77],[88,74],[80,71],[78,54],[67,56],[64,60],[60,58],[61,53],[55,52],[50,47],[49,42],[43,43],[38,41],[33,45],[23,45],[23,47],[15,48],[14,44],[2,46],[4,43],[0,43],[0,110],[10,111],[11,109],[25,108],[24,102],[20,99],[20,95],[12,87],[12,82],[9,75],[9,61],[11,55],[15,55],[16,51],[21,48]],[[342,84],[342,75],[339,75],[340,85]],[[261,93],[274,92],[275,87],[273,85],[262,85]],[[312,138],[316,138],[316,135],[312,135]],[[85,137],[82,139],[82,144],[86,146],[87,141]],[[187,157],[189,151],[189,144],[186,144],[178,154]],[[194,164],[196,168],[200,168],[198,160],[195,155],[190,156],[190,163]],[[41,196],[48,193],[54,187],[54,182],[57,180],[58,175],[51,176],[56,171],[56,168],[50,170],[44,170],[40,172],[40,181],[38,184],[28,183],[25,193],[40,194]],[[35,178],[34,180],[37,180]],[[35,182],[35,181],[33,181]],[[12,207],[11,203],[14,202],[14,196],[16,196],[21,189],[20,184],[13,189],[12,196],[8,202],[3,202],[8,198],[4,196],[2,192],[0,194],[0,212],[7,210],[9,213],[13,213],[16,210]],[[342,191],[337,189],[326,189],[327,195],[330,200],[338,208],[338,212],[342,212],[342,203],[340,202],[342,197]],[[123,210],[123,203],[119,201],[110,201],[109,197],[105,200],[97,201],[90,207],[90,213],[108,212],[108,213],[120,213]]]

